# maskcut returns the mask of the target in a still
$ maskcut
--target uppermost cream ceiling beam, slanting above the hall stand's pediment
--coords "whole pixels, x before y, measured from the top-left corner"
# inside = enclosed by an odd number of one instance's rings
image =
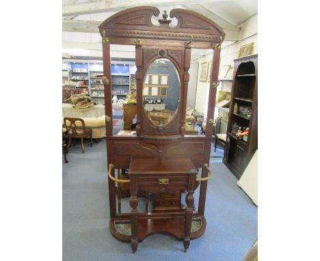
[[[212,3],[219,0],[189,0],[188,3]],[[221,1],[221,0],[220,0]],[[79,16],[81,14],[96,14],[103,12],[119,11],[141,5],[172,6],[185,4],[185,0],[116,0],[116,1],[93,1],[87,3],[66,4],[62,6],[62,16]]]

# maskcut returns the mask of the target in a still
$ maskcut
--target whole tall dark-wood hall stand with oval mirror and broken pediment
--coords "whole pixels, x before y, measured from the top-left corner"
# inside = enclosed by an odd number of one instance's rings
[[[157,8],[144,6],[130,8],[107,18],[99,30],[103,42],[103,68],[105,83],[105,118],[107,130],[107,161],[109,163],[109,229],[120,241],[131,242],[133,252],[137,243],[155,233],[176,236],[189,241],[204,234],[206,219],[204,208],[206,184],[211,176],[208,167],[213,132],[213,115],[217,75],[219,70],[220,46],[224,32],[213,21],[189,10],[174,9],[171,18],[177,25],[171,27],[168,14],[159,19],[160,25],[153,25],[152,16],[159,16]],[[137,126],[136,135],[113,135],[111,106],[111,64],[110,44],[135,45],[135,66],[137,71]],[[213,60],[209,89],[209,104],[206,113],[206,135],[185,136],[187,90],[191,48],[212,49]],[[155,124],[146,114],[143,102],[143,85],[148,70],[156,60],[174,66],[178,77],[176,113],[166,124]],[[157,73],[156,73],[157,74]],[[173,75],[173,74],[172,74]],[[173,79],[173,77],[170,77]],[[162,80],[161,80],[162,83]],[[168,82],[168,86],[172,87]],[[172,92],[169,92],[169,95]],[[167,107],[166,107],[167,109]],[[172,109],[170,109],[172,110]],[[172,110],[172,111],[175,111]],[[122,135],[121,135],[122,134]],[[170,161],[170,164],[166,164]],[[152,164],[150,164],[152,163]],[[129,180],[115,178],[116,169],[129,169]],[[201,170],[201,176],[196,174]],[[116,182],[129,183],[131,212],[116,211]],[[200,184],[198,204],[194,204],[193,193]],[[187,190],[187,206],[181,204],[181,191]],[[137,194],[147,191],[153,194],[153,212],[137,212]],[[162,192],[163,191],[163,192]],[[171,209],[159,209],[163,193],[163,205],[178,204]],[[175,193],[174,195],[172,193]],[[178,197],[178,199],[177,199]],[[173,200],[173,201],[172,201]],[[158,204],[159,203],[159,204]],[[192,223],[192,225],[191,225]],[[191,229],[192,228],[192,229]]]

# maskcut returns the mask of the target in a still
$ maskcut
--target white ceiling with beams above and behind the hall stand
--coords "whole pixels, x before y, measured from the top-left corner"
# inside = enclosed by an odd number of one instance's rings
[[[152,5],[170,12],[184,8],[198,12],[217,23],[226,33],[224,45],[239,40],[240,25],[258,12],[257,0],[62,0],[62,40],[64,56],[102,56],[101,36],[98,25],[120,10],[141,5]],[[81,52],[80,52],[81,53]],[[82,52],[83,53],[83,52]],[[125,55],[128,55],[126,53]]]

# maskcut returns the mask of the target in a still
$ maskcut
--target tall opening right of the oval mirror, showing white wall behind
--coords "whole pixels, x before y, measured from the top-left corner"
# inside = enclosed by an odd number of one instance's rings
[[[205,134],[212,58],[212,49],[191,49],[185,126],[186,135]]]

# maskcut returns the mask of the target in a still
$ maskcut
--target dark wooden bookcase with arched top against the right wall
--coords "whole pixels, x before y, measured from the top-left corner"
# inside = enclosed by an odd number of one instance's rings
[[[232,79],[229,121],[227,127],[224,163],[239,179],[258,149],[258,55],[235,59]],[[238,111],[235,112],[237,103]],[[239,112],[240,107],[251,108],[251,116]],[[249,127],[248,140],[243,141],[231,133],[232,125]]]

